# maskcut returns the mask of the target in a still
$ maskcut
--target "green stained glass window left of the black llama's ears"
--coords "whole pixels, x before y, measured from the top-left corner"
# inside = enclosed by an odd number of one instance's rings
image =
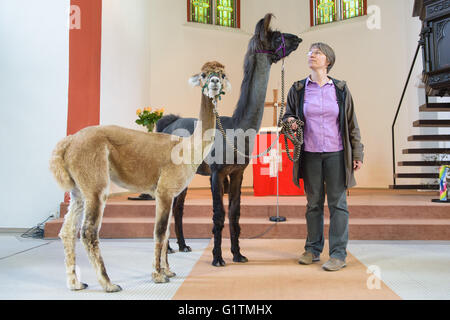
[[[188,0],[188,21],[240,28],[240,0]]]

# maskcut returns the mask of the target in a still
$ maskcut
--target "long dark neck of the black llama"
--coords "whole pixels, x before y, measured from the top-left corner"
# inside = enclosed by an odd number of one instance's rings
[[[249,57],[244,70],[241,95],[233,114],[235,128],[259,131],[264,115],[270,67],[271,62],[266,54],[255,54]]]

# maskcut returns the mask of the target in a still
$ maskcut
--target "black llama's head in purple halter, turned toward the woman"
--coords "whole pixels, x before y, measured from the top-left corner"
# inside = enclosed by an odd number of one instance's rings
[[[256,24],[255,34],[250,41],[249,54],[265,53],[276,63],[297,50],[302,39],[294,34],[272,30],[270,22],[273,14],[268,13]]]

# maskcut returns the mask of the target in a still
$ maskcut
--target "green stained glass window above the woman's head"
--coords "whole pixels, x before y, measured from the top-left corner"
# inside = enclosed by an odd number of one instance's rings
[[[310,0],[311,26],[367,14],[367,0]]]

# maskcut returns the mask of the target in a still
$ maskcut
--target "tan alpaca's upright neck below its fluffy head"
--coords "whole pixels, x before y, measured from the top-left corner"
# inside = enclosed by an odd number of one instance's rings
[[[216,117],[213,108],[213,100],[202,94],[199,121],[197,121],[194,133],[190,137],[193,151],[202,153],[201,160],[203,160],[203,155],[209,153],[214,144]]]

